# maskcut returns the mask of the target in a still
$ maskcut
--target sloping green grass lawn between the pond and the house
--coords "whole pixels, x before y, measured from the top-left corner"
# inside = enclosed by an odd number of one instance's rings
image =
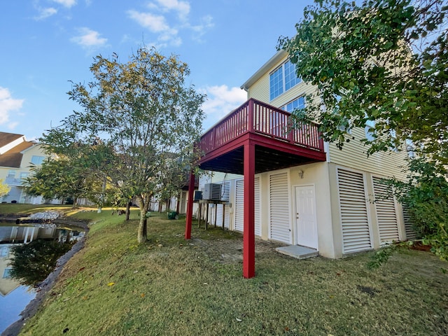
[[[139,245],[137,209],[127,223],[70,214],[94,221],[85,248],[20,335],[448,335],[447,264],[428,252],[369,271],[370,253],[296,260],[271,248],[244,279],[241,260],[216,257],[237,232],[193,225],[186,241],[185,218],[153,214]]]

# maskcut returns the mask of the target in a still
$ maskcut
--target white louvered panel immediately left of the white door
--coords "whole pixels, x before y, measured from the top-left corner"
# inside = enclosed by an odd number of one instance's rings
[[[270,238],[290,244],[288,174],[269,176],[269,233]]]

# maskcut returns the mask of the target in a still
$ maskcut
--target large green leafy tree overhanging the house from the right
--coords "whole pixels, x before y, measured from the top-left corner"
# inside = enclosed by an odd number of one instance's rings
[[[408,182],[391,185],[440,246],[448,245],[447,14],[446,0],[316,0],[278,45],[317,89],[297,119],[316,121],[339,148],[354,127],[369,127],[372,137],[360,139],[369,155],[413,152]]]

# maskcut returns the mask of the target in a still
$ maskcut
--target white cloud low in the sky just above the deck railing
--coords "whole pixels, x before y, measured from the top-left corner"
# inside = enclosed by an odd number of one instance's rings
[[[202,105],[206,114],[206,128],[214,125],[218,120],[246,102],[247,93],[239,87],[228,87],[227,85],[215,85],[200,90],[207,94],[207,100]]]

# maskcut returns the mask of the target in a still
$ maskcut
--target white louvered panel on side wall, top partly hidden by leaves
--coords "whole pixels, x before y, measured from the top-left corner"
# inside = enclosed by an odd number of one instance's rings
[[[375,195],[375,210],[377,212],[377,222],[379,229],[379,240],[384,241],[398,241],[398,221],[397,212],[395,210],[395,202],[393,195],[382,199],[387,195],[387,186],[381,183],[381,179],[374,177],[373,190]],[[380,200],[377,199],[380,197]]]

